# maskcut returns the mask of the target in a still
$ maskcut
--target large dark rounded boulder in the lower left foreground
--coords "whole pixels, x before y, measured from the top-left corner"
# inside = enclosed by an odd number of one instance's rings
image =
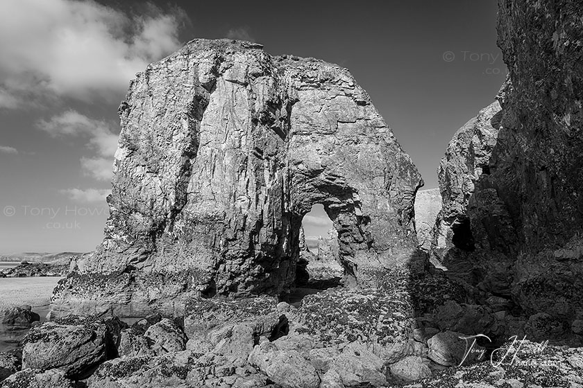
[[[85,378],[108,356],[117,355],[114,335],[105,321],[96,317],[71,315],[44,322],[24,337],[22,368],[58,368],[69,378]]]

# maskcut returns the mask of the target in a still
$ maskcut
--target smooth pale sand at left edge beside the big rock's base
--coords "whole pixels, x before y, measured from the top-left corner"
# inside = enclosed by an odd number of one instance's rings
[[[12,306],[47,306],[60,277],[0,278],[0,312]]]

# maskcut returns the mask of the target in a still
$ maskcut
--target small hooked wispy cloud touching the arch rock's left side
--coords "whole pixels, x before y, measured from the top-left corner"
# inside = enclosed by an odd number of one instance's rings
[[[94,156],[81,158],[83,173],[100,181],[111,179],[118,135],[112,132],[108,123],[69,110],[51,117],[49,121],[39,121],[37,127],[53,137],[76,136],[86,139],[85,145],[94,152]]]

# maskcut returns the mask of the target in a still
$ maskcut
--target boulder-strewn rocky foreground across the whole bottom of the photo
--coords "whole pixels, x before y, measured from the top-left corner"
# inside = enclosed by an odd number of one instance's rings
[[[273,297],[196,298],[184,316],[149,315],[131,326],[108,316],[47,321],[31,328],[20,351],[1,355],[10,377],[0,386],[583,384],[583,348],[528,340],[546,326],[509,315],[507,301],[471,304],[463,285],[439,272],[385,280],[384,289],[330,288],[299,308]],[[492,342],[478,338],[470,351],[462,338],[477,334]],[[518,339],[507,341],[512,335]]]

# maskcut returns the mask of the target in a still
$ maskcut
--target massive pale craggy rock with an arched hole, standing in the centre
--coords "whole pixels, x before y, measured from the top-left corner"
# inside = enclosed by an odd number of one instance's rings
[[[56,288],[56,315],[285,292],[316,203],[349,279],[412,261],[420,175],[346,69],[195,39],[137,74],[119,114],[105,239]]]

